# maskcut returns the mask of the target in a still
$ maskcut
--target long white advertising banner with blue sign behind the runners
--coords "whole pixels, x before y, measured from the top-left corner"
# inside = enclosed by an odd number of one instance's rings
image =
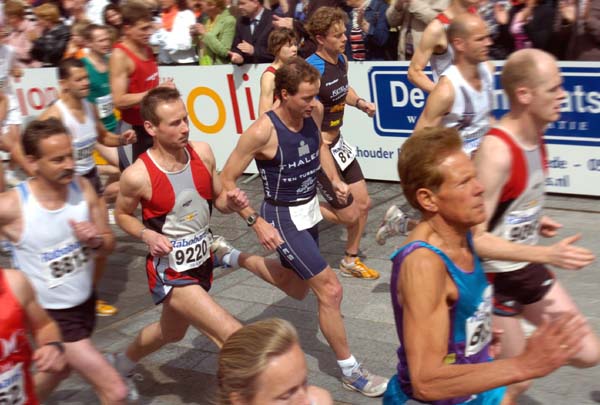
[[[210,143],[217,166],[223,167],[238,137],[256,119],[260,75],[266,65],[243,67],[161,67],[160,77],[173,78],[190,119],[191,139]],[[352,62],[350,85],[360,97],[374,101],[369,118],[346,106],[344,137],[356,145],[365,176],[398,180],[398,148],[412,132],[426,94],[407,79],[407,63]],[[498,66],[498,72],[500,65]],[[567,98],[562,116],[545,135],[548,146],[547,190],[562,194],[600,196],[600,63],[563,62]],[[38,115],[58,94],[54,69],[30,69],[13,83],[24,116]],[[499,84],[496,86],[500,88]],[[508,103],[496,91],[495,115]],[[249,168],[255,172],[254,166]]]

